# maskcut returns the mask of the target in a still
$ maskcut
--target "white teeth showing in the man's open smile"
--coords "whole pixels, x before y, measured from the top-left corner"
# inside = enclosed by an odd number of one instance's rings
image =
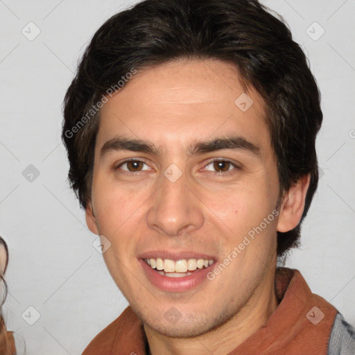
[[[166,277],[186,277],[208,268],[213,259],[180,259],[177,261],[162,258],[143,259],[153,270]]]

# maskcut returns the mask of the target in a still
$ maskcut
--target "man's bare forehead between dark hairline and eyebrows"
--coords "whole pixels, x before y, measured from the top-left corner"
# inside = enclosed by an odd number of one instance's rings
[[[261,96],[252,87],[246,92],[233,64],[175,60],[138,71],[109,98],[96,148],[117,134],[154,139],[162,149],[231,132],[268,144],[263,114]]]

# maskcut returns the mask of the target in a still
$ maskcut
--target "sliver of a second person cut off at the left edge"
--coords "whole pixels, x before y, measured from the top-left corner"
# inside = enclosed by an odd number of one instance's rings
[[[6,300],[7,286],[3,279],[3,275],[8,267],[8,245],[0,236],[0,291],[1,291],[1,303],[0,303],[0,355],[15,355],[15,340],[12,335],[12,331],[6,330],[6,324],[3,320],[3,315],[1,312],[1,306]]]

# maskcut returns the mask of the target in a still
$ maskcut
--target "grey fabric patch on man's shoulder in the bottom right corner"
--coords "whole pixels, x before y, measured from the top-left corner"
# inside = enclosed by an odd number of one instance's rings
[[[328,355],[355,355],[355,329],[338,313],[329,338]]]

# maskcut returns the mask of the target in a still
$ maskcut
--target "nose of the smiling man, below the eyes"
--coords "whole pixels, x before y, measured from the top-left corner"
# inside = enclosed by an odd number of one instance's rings
[[[153,195],[148,210],[148,227],[166,236],[178,236],[202,227],[203,204],[192,190],[184,174],[175,182],[163,175],[162,185]]]

